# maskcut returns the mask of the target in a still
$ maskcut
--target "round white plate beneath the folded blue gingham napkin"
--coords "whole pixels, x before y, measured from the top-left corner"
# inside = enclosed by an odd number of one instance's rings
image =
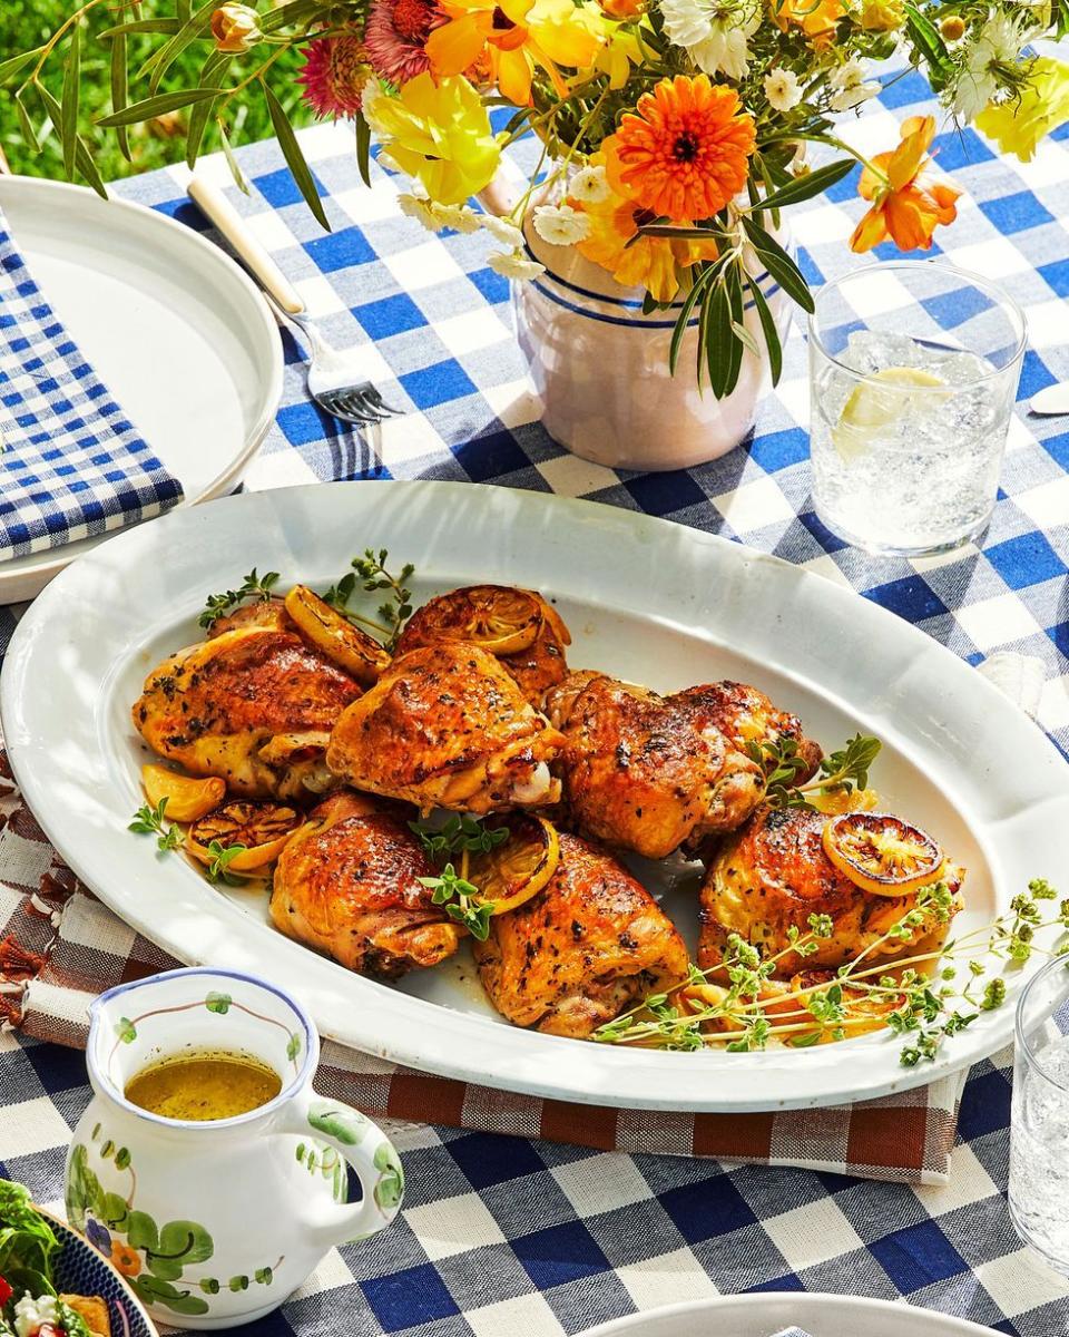
[[[255,283],[199,233],[83,186],[0,176],[0,209],[45,299],[182,483],[183,505],[231,492],[282,394],[282,341]],[[32,599],[102,541],[0,562],[0,604]]]

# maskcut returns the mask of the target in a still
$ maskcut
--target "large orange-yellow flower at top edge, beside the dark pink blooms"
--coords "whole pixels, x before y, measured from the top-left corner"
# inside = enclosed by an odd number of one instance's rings
[[[592,66],[604,40],[592,16],[572,0],[442,0],[440,8],[448,21],[426,43],[434,78],[489,63],[492,80],[517,107],[530,104],[536,66],[565,98],[568,84],[557,66]]]

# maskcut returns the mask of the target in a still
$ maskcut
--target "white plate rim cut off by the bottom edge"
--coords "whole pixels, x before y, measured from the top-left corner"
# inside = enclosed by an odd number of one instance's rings
[[[810,1337],[991,1337],[990,1328],[901,1300],[893,1304],[804,1292],[669,1305],[601,1324],[583,1337],[774,1337],[791,1325]]]

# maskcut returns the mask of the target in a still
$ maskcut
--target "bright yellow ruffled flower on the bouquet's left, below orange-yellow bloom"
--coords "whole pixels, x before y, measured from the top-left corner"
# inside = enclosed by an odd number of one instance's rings
[[[397,98],[374,99],[374,128],[397,166],[424,183],[438,205],[461,205],[497,171],[501,148],[466,79],[429,72],[402,84]]]

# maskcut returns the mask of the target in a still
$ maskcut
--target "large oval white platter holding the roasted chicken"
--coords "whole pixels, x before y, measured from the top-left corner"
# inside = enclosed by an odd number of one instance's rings
[[[184,961],[297,989],[322,1032],[496,1087],[619,1106],[774,1110],[930,1082],[1000,1048],[1012,1005],[937,1062],[905,1068],[886,1032],[808,1050],[667,1054],[516,1029],[492,1012],[464,948],[396,987],[317,956],[266,921],[263,897],[208,885],[127,832],[146,759],[130,721],[144,675],[199,639],[206,595],[251,567],[325,587],[365,547],[417,566],[417,599],[460,584],[541,590],[571,627],[569,662],[660,690],[755,683],[835,747],[883,739],[887,806],[965,864],[958,932],[989,923],[1030,877],[1065,870],[1069,767],[981,674],[923,632],[812,572],[629,511],[453,483],[338,483],[175,511],[88,554],[19,624],[0,683],[25,800],[75,872]],[[684,935],[698,870],[641,865]],[[1021,975],[1010,975],[1010,997]]]

